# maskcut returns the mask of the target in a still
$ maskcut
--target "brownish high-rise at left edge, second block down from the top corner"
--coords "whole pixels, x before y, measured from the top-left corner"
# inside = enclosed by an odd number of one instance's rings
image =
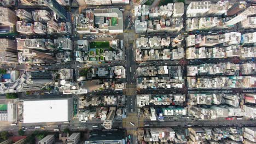
[[[17,63],[17,46],[15,41],[0,39],[0,63]]]

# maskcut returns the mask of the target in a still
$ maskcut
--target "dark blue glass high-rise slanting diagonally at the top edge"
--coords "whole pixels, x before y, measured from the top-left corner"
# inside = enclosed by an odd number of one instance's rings
[[[56,0],[46,0],[45,4],[54,11],[61,19],[67,19],[67,10],[63,8]]]

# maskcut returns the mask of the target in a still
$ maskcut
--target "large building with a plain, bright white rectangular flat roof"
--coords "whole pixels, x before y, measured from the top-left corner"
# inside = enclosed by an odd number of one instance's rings
[[[72,98],[34,99],[23,102],[24,123],[68,122],[73,117]]]

